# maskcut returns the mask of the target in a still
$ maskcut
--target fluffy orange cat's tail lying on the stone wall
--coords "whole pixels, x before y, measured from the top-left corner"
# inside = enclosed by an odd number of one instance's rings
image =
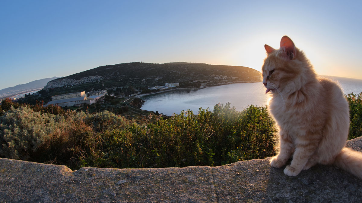
[[[342,168],[349,173],[357,176],[362,180],[362,153],[342,148],[341,152],[336,156],[334,165]]]

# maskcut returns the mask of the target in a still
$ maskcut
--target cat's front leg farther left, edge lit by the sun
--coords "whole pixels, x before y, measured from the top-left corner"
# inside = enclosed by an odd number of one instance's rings
[[[282,130],[279,130],[279,143],[280,151],[278,155],[274,156],[273,159],[271,159],[270,161],[270,165],[274,168],[280,168],[285,165],[294,150],[291,139],[287,134],[284,134]]]

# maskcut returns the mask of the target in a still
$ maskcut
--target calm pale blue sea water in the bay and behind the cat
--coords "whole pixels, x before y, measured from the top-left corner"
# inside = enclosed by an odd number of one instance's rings
[[[338,81],[345,94],[362,91],[362,80],[341,77],[329,77]],[[190,109],[197,113],[200,107],[212,110],[215,104],[230,102],[237,111],[242,111],[248,105],[263,106],[267,102],[265,87],[261,82],[236,83],[230,85],[207,87],[204,89],[172,90],[142,97],[146,102],[141,109],[158,111],[171,116],[182,110]]]

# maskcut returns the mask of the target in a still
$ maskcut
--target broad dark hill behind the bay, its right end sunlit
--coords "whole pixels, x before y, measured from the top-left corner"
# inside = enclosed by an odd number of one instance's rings
[[[48,82],[45,89],[62,87],[64,91],[89,91],[112,87],[152,87],[180,83],[180,87],[223,85],[237,82],[260,82],[261,73],[244,66],[209,65],[172,62],[151,64],[131,62],[105,65]]]

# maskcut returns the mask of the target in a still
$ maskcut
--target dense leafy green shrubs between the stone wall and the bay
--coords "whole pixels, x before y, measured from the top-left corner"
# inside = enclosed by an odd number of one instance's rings
[[[98,152],[81,166],[110,168],[222,165],[272,156],[274,122],[265,107],[251,105],[243,112],[230,104],[214,112],[183,111],[167,120],[157,117],[145,125],[126,123],[101,134]]]

